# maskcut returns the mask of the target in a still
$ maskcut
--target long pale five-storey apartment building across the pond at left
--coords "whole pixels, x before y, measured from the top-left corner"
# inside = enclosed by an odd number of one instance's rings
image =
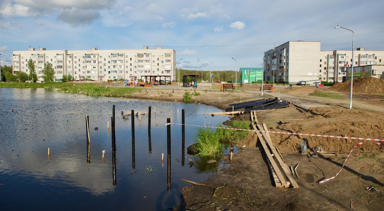
[[[55,79],[71,74],[74,80],[89,79],[108,81],[113,79],[151,79],[154,76],[175,79],[176,52],[174,49],[121,49],[121,50],[46,50],[30,48],[13,51],[13,74],[23,71],[29,74],[28,60],[32,59],[38,80],[43,81],[44,64],[49,62],[55,70]],[[145,78],[147,77],[147,78]]]

